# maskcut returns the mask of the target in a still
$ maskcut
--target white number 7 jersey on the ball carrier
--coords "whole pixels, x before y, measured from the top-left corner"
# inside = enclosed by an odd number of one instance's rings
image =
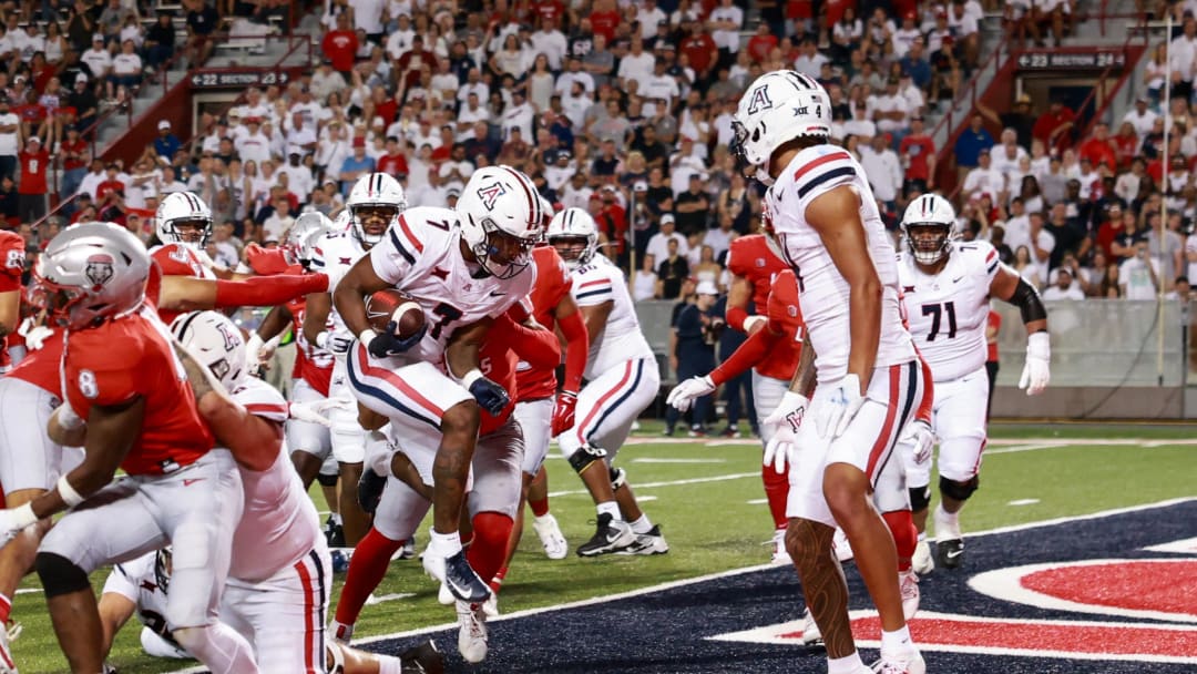
[[[429,329],[420,344],[400,358],[440,365],[452,333],[486,317],[497,317],[531,292],[536,267],[510,279],[470,269],[461,253],[457,213],[450,208],[403,211],[370,250],[375,274],[419,302]]]

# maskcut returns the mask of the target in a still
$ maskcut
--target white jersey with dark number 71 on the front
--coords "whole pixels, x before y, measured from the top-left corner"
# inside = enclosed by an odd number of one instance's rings
[[[985,365],[989,286],[1002,265],[984,241],[949,245],[948,263],[935,275],[920,272],[909,253],[898,260],[910,334],[936,383]]]

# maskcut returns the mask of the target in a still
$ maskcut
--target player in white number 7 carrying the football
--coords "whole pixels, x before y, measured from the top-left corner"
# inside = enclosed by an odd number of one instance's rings
[[[358,401],[390,420],[393,437],[438,447],[424,567],[470,603],[491,594],[457,532],[479,409],[497,414],[510,402],[510,394],[482,375],[478,353],[494,318],[531,291],[529,253],[541,232],[542,204],[531,178],[510,166],[486,166],[470,176],[455,208],[400,214],[334,291],[338,314],[358,338],[347,368]],[[365,297],[387,287],[419,302],[420,332],[401,338],[396,326],[371,328]]]

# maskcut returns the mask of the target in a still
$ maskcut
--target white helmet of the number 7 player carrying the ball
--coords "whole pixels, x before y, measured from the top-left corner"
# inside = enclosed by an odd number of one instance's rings
[[[454,208],[461,237],[492,275],[510,279],[529,263],[545,230],[545,210],[531,178],[511,166],[474,171]]]

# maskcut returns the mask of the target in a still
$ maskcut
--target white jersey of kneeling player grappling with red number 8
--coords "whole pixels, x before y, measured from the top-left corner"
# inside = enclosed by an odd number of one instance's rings
[[[247,378],[232,399],[267,421],[281,425],[287,419],[282,395],[261,379]],[[316,506],[288,454],[284,444],[266,470],[239,467],[245,508],[232,535],[230,578],[265,581],[310,553],[322,535]]]

